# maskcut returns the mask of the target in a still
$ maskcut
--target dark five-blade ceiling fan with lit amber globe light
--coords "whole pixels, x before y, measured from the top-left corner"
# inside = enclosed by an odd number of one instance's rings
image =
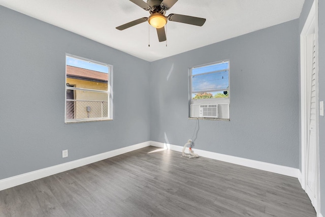
[[[167,20],[174,22],[187,23],[191,25],[202,26],[206,19],[200,17],[192,17],[181,14],[170,14],[165,16],[166,11],[171,9],[178,0],[147,0],[145,3],[142,0],[129,0],[146,11],[149,11],[149,17],[142,17],[140,19],[125,23],[117,26],[118,30],[124,30],[134,25],[148,21],[150,25],[157,29],[157,35],[159,42],[166,41],[165,25]]]

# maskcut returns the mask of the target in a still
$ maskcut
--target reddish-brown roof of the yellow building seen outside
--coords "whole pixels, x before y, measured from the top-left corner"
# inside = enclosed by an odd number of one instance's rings
[[[103,72],[92,71],[89,69],[82,69],[73,66],[67,66],[67,75],[80,78],[89,78],[101,81],[108,80],[108,74]]]

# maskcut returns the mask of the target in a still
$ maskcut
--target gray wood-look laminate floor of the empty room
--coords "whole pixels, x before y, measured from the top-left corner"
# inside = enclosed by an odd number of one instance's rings
[[[0,216],[316,216],[297,178],[156,149],[0,191]]]

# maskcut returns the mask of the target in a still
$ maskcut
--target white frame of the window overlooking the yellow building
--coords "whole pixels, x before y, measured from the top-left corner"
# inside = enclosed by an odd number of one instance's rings
[[[108,67],[108,82],[107,82],[107,90],[98,90],[98,89],[87,89],[87,88],[78,88],[78,87],[70,87],[67,85],[67,57],[72,57],[84,61],[88,61],[90,63],[102,65]],[[101,63],[100,61],[88,59],[85,57],[80,57],[77,55],[66,53],[66,73],[65,73],[65,91],[64,91],[64,122],[66,123],[77,123],[77,122],[91,122],[91,121],[103,121],[103,120],[113,120],[113,66],[105,63]],[[108,96],[108,117],[97,117],[97,118],[79,118],[79,119],[67,119],[67,90],[82,90],[82,91],[91,91],[91,92],[99,92],[107,94]]]

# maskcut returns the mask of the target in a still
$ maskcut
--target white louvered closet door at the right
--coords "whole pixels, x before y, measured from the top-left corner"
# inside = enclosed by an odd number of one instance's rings
[[[314,37],[313,37],[314,38]],[[307,144],[307,189],[306,192],[315,206],[315,187],[316,187],[316,62],[315,62],[315,40],[313,40],[312,61],[309,69],[310,82],[310,98],[309,98],[309,133]]]

